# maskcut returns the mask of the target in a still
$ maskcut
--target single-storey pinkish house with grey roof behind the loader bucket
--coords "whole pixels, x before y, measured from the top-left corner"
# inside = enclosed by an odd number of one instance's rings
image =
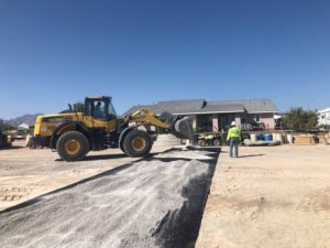
[[[158,101],[155,105],[134,106],[124,115],[140,108],[148,108],[156,115],[164,111],[178,116],[194,116],[194,127],[202,131],[227,129],[231,121],[242,123],[263,123],[267,129],[274,129],[274,115],[278,112],[271,99],[241,99],[207,101],[205,99]]]

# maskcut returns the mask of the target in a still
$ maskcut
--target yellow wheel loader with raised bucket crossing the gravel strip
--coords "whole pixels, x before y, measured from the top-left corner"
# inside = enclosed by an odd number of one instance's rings
[[[31,145],[56,150],[65,161],[79,161],[90,150],[107,148],[120,148],[130,157],[143,157],[151,151],[160,132],[194,138],[189,117],[179,118],[167,112],[157,117],[142,108],[118,118],[111,97],[87,97],[81,110],[69,105],[69,110],[61,114],[38,116]]]

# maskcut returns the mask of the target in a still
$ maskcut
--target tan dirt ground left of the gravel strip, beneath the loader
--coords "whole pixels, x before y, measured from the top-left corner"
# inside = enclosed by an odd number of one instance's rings
[[[169,147],[154,147],[158,153]],[[28,149],[14,142],[0,150],[0,211],[124,163],[136,161],[119,149],[89,152],[81,162],[61,161],[50,149]]]

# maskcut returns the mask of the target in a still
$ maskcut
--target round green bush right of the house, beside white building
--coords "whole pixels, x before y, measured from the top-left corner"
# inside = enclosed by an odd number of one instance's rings
[[[312,110],[304,110],[301,107],[292,108],[284,117],[287,128],[295,131],[307,132],[317,127],[318,115]]]

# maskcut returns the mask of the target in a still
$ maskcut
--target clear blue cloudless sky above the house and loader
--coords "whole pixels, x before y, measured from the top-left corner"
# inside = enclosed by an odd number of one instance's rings
[[[0,117],[110,95],[330,107],[328,0],[0,0]]]

